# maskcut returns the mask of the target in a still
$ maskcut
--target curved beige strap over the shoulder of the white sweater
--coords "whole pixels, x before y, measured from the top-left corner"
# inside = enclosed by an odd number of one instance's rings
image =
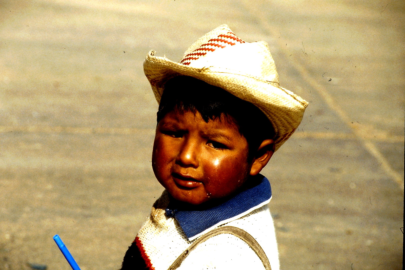
[[[197,240],[195,240],[190,245],[190,247],[188,247],[188,249],[186,249],[183,253],[181,253],[181,255],[173,262],[173,264],[168,268],[168,270],[177,269],[180,266],[180,264],[184,261],[185,257],[188,256],[190,251],[195,249],[198,244],[201,244],[201,243],[205,242],[206,240],[208,240],[209,238],[216,236],[218,234],[232,234],[234,236],[237,236],[238,238],[241,238],[243,241],[245,241],[249,245],[249,247],[251,247],[253,249],[253,251],[256,253],[256,255],[258,255],[258,257],[260,258],[260,260],[262,261],[262,263],[264,265],[264,268],[266,270],[271,270],[269,259],[267,258],[266,253],[264,253],[262,247],[260,247],[260,245],[256,241],[256,239],[253,238],[253,236],[251,236],[244,230],[239,229],[237,227],[233,227],[233,226],[224,226],[224,227],[216,228],[216,229],[208,232],[207,234],[204,234]]]

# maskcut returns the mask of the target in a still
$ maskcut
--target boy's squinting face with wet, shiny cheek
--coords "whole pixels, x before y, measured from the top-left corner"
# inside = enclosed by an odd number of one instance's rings
[[[167,113],[156,128],[152,167],[176,200],[202,204],[224,198],[245,183],[251,170],[248,144],[222,119],[206,123],[200,113]]]

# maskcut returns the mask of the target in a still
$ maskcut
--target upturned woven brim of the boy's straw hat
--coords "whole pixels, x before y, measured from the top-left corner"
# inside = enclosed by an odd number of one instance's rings
[[[180,75],[190,76],[220,87],[230,94],[256,105],[269,118],[275,131],[275,150],[294,133],[301,122],[307,102],[277,83],[227,68],[194,68],[150,51],[143,68],[158,103],[165,83]]]

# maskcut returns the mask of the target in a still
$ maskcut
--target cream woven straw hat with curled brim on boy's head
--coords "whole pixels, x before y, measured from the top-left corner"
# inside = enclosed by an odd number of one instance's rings
[[[178,63],[149,51],[143,69],[158,102],[164,84],[184,75],[221,87],[253,103],[273,123],[276,150],[294,133],[308,105],[279,86],[276,66],[266,42],[247,43],[227,25],[199,38]]]

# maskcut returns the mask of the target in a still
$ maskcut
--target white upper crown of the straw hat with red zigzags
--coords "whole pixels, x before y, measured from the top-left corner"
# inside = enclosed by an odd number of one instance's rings
[[[208,32],[185,51],[180,64],[193,68],[232,70],[241,75],[279,84],[276,66],[266,42],[247,43],[227,25]]]

